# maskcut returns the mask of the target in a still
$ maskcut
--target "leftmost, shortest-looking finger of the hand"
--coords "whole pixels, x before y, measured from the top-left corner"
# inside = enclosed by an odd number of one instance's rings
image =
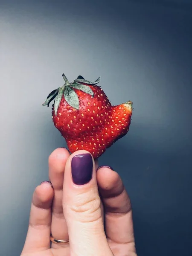
[[[32,197],[29,228],[21,255],[50,248],[53,195],[52,185],[48,181],[36,187]]]

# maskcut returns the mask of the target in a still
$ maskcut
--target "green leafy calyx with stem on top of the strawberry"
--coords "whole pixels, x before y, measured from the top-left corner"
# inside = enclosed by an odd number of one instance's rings
[[[88,85],[96,85],[100,82],[100,77],[96,81],[91,82],[91,81],[85,80],[82,76],[78,76],[78,78],[72,81],[71,83],[68,81],[67,77],[64,74],[62,74],[62,77],[65,81],[65,84],[61,87],[58,87],[58,89],[53,90],[51,93],[49,93],[46,101],[43,104],[43,106],[47,105],[47,107],[49,107],[50,102],[52,102],[52,100],[55,99],[53,104],[55,116],[57,116],[58,107],[63,96],[66,102],[71,107],[79,110],[79,98],[75,90],[73,90],[73,88],[77,90],[81,90],[84,93],[90,94],[90,96],[93,98],[94,97],[93,90]]]

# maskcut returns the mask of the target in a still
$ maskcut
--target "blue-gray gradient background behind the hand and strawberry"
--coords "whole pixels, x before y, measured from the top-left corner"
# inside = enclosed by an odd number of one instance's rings
[[[0,1],[2,255],[20,255],[32,192],[66,145],[41,105],[62,73],[101,76],[113,105],[134,102],[100,165],[124,180],[138,255],[191,255],[191,70],[191,1]]]

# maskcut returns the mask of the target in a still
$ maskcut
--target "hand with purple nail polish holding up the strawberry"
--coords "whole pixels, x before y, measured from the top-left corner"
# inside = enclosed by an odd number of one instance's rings
[[[51,183],[41,183],[33,194],[22,256],[136,256],[122,180],[110,167],[96,168],[87,151],[53,151]],[[50,244],[51,233],[69,244]]]

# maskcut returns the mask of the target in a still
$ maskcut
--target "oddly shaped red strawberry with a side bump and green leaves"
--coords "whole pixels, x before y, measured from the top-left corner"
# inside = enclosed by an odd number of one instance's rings
[[[65,138],[71,153],[85,149],[94,159],[100,157],[114,142],[129,130],[132,102],[112,106],[98,84],[100,77],[87,81],[78,76],[47,96],[44,106],[54,100],[52,119],[55,127]]]

